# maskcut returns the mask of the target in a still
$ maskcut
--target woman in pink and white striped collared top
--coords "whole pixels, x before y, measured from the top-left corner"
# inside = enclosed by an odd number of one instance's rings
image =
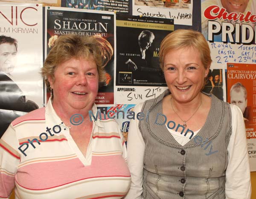
[[[119,126],[88,116],[96,114],[94,99],[112,54],[101,37],[55,41],[42,69],[51,99],[15,119],[0,140],[0,198],[13,188],[19,199],[116,199],[127,193],[131,176]]]

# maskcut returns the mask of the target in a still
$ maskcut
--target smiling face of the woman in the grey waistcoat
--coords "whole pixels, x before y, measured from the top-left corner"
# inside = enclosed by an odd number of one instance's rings
[[[204,68],[197,49],[187,47],[169,51],[164,57],[163,71],[172,97],[184,103],[200,94],[209,68]]]

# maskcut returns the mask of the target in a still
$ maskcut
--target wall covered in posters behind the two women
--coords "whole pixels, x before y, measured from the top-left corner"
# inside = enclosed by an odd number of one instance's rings
[[[256,130],[254,127],[256,122],[256,111],[254,111],[256,83],[253,76],[255,74],[253,68],[256,64],[256,2],[254,0],[248,0],[248,3],[239,9],[222,5],[221,0],[201,0],[201,3],[194,0],[188,1],[189,3],[183,0],[169,2],[158,0],[143,2],[140,0],[62,0],[61,4],[60,0],[20,0],[18,2],[35,2],[44,3],[47,6],[61,5],[65,7],[46,7],[46,18],[43,19],[40,4],[29,4],[30,9],[25,9],[26,6],[18,3],[0,4],[0,35],[15,38],[18,45],[14,54],[16,55],[14,69],[5,72],[2,77],[15,82],[16,91],[22,91],[23,96],[26,97],[25,102],[31,102],[34,108],[44,105],[43,84],[38,75],[43,63],[41,42],[43,37],[45,55],[54,45],[54,40],[61,34],[94,34],[107,39],[115,53],[106,67],[107,84],[99,90],[95,102],[101,111],[116,111],[118,108],[127,114],[137,103],[155,98],[166,89],[163,74],[157,63],[161,40],[177,28],[192,28],[202,31],[209,41],[213,60],[204,91],[235,104],[239,100],[233,99],[235,91],[232,91],[232,86],[240,86],[240,90],[237,88],[239,91],[236,92],[236,98],[240,97],[240,101],[244,100],[244,105],[246,104],[241,111],[244,114],[246,125],[250,168],[251,171],[256,171]],[[15,6],[17,6],[17,16],[22,16],[25,23],[19,21],[19,18],[15,21]],[[200,8],[201,17],[198,14]],[[14,11],[13,16],[11,11]],[[23,14],[20,14],[21,11]],[[108,11],[126,15],[115,15]],[[29,17],[31,15],[34,17]],[[45,30],[42,29],[43,21],[45,21]],[[96,26],[101,29],[93,32],[86,31],[81,26],[81,23],[86,23],[86,21],[93,21],[94,25],[97,23]],[[35,23],[37,23],[35,26],[28,26]],[[201,23],[201,26],[198,26],[198,23]],[[108,27],[105,24],[108,24]],[[143,54],[140,51],[139,38],[140,34],[144,33],[149,35],[150,45],[145,47],[146,50]],[[26,40],[32,42],[27,43]],[[29,71],[30,82],[26,78],[26,71]],[[246,88],[247,95],[241,92],[242,86]],[[35,93],[31,91],[35,91]],[[6,101],[4,98],[3,100]],[[6,109],[4,107],[0,109],[1,111],[4,116],[1,115],[2,118],[10,118],[6,119],[3,126],[8,125],[8,121],[10,122],[14,117],[26,114],[26,111],[15,108]],[[13,115],[14,113],[15,115]],[[129,120],[122,118],[116,120],[126,137]]]

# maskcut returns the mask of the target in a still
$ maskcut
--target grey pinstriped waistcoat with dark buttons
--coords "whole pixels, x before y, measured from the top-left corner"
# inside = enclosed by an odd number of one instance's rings
[[[144,114],[148,113],[148,119],[139,122],[145,142],[143,197],[225,199],[227,146],[232,132],[230,106],[209,95],[212,104],[204,126],[182,146],[165,125],[155,123],[157,114],[163,114],[162,99],[168,94],[167,89],[159,97],[145,101],[142,108]],[[157,122],[163,123],[163,117],[158,117]]]

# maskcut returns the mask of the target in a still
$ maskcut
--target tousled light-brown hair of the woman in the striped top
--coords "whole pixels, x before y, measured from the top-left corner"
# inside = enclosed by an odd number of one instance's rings
[[[99,85],[103,85],[106,82],[104,67],[113,55],[111,44],[103,37],[98,36],[85,37],[67,34],[58,37],[47,55],[44,67],[41,69],[41,75],[45,78],[47,87],[50,86],[48,77],[54,81],[54,72],[58,65],[72,58],[89,59],[90,55],[93,56],[97,65]]]

